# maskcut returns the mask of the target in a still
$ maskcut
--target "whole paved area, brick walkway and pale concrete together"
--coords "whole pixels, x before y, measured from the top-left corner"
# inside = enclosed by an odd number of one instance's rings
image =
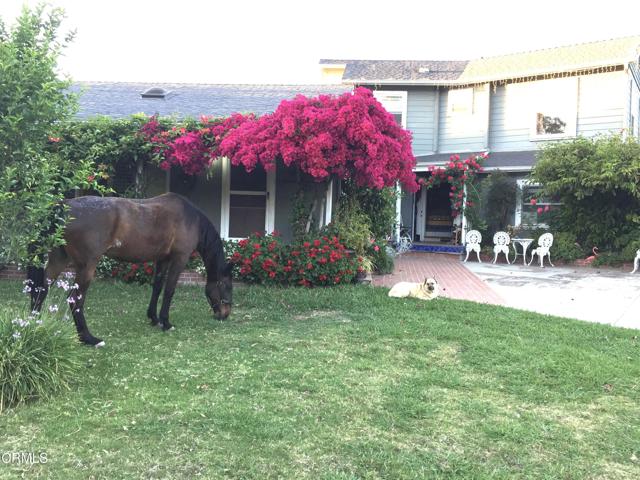
[[[435,277],[442,296],[640,329],[640,274],[590,267],[462,263],[458,255],[409,252],[376,286]]]

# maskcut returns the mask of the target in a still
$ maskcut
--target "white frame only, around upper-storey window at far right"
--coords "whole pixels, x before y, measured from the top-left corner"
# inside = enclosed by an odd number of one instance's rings
[[[562,79],[538,80],[531,83],[531,130],[529,139],[532,142],[545,140],[562,140],[567,138],[575,138],[578,128],[578,77],[567,77]],[[550,89],[566,89],[567,94],[563,96],[565,105],[554,105],[547,108],[544,105],[545,92]],[[541,108],[539,105],[543,104]],[[562,133],[538,133],[537,131],[537,114],[551,113],[550,116],[557,116],[566,121],[565,130]]]

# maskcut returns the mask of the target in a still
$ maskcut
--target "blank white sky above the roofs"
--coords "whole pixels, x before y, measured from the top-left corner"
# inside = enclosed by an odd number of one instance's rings
[[[2,0],[11,25],[23,4]],[[312,84],[319,60],[468,60],[640,35],[640,2],[49,0],[74,80]]]

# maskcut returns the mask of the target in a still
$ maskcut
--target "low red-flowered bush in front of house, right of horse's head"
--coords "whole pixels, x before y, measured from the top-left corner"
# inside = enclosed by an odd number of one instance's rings
[[[358,270],[336,237],[284,246],[277,236],[253,234],[238,242],[230,261],[240,279],[262,284],[337,285],[350,283]]]

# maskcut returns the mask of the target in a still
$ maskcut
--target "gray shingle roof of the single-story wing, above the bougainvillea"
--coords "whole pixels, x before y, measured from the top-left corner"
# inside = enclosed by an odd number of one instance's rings
[[[142,98],[150,87],[171,93],[165,98]],[[106,115],[127,117],[134,113],[176,115],[180,118],[200,115],[228,116],[236,112],[261,115],[273,112],[282,100],[298,94],[339,95],[352,90],[347,85],[206,85],[174,83],[78,82],[80,91],[78,118]]]

